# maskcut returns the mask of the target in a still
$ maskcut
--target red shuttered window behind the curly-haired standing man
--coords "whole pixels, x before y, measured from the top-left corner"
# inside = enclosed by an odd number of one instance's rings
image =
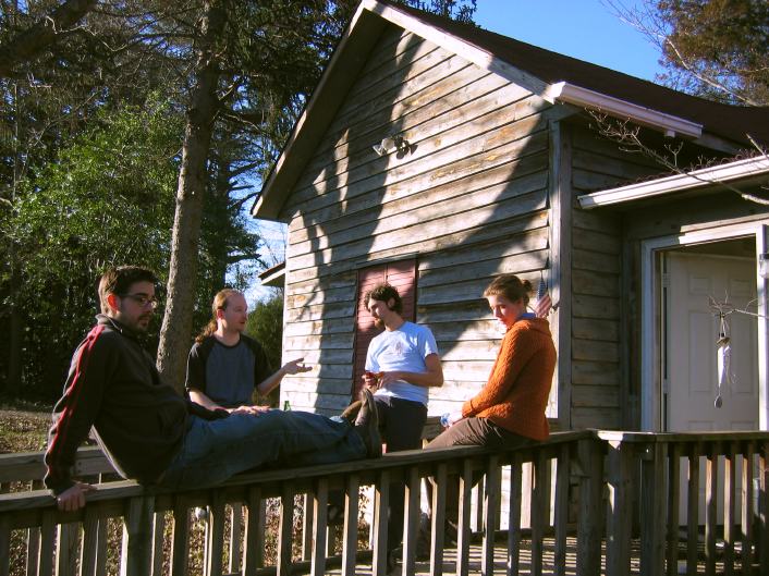
[[[414,321],[416,317],[416,259],[398,260],[368,268],[357,273],[357,314],[355,315],[355,348],[353,352],[353,400],[363,388],[363,372],[366,370],[368,343],[381,330],[374,326],[374,318],[366,308],[364,294],[377,284],[391,284],[403,299],[403,319]]]

